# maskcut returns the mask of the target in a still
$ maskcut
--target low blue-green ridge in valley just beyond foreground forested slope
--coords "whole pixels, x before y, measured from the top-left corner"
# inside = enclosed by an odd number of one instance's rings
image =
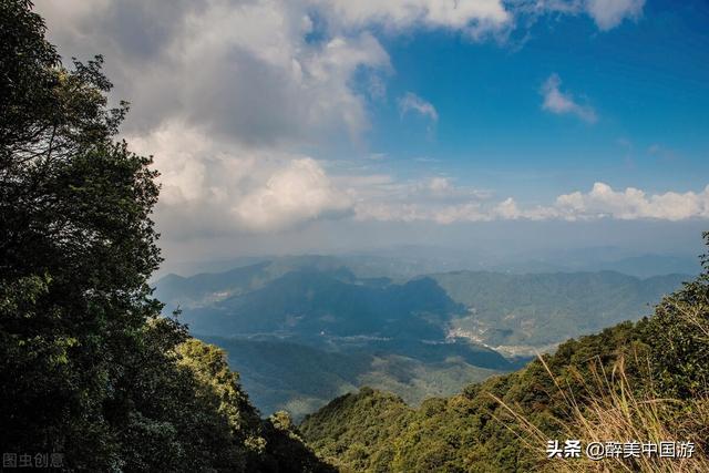
[[[497,372],[463,357],[428,359],[423,349],[404,351],[393,342],[378,350],[364,346],[329,351],[281,340],[203,339],[228,352],[229,364],[238,367],[249,398],[264,413],[287,410],[296,419],[361,385],[391,391],[419,404],[427,397],[451,395]],[[446,348],[454,351],[452,346]],[[372,354],[373,350],[379,353]],[[407,354],[391,353],[397,351]]]

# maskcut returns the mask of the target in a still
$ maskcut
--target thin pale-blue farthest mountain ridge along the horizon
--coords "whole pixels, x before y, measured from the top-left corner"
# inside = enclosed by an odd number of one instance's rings
[[[699,248],[700,249],[700,248]],[[698,250],[699,250],[698,249]],[[405,280],[419,275],[460,270],[510,274],[594,273],[612,270],[647,278],[669,274],[696,276],[701,266],[691,250],[674,254],[638,253],[616,247],[554,249],[499,254],[483,249],[461,250],[425,246],[393,247],[338,255],[248,256],[203,263],[172,263],[167,270],[183,276],[220,274],[259,263],[291,268],[326,260],[350,268],[358,277]],[[165,275],[163,273],[163,275]],[[175,276],[175,275],[173,275]],[[181,276],[182,277],[182,276]]]

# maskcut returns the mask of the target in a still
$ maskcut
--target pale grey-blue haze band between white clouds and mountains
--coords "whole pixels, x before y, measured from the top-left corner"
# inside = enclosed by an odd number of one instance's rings
[[[616,223],[606,222],[612,227]],[[493,225],[493,224],[486,224]],[[524,223],[507,223],[507,226],[516,226],[526,232],[510,232],[499,228],[474,228],[456,229],[446,228],[448,235],[435,235],[435,238],[419,233],[418,237],[411,238],[411,232],[401,229],[401,237],[392,237],[392,233],[386,234],[386,239],[377,240],[372,234],[368,234],[368,239],[358,240],[358,236],[351,232],[345,232],[342,238],[346,240],[317,240],[316,235],[304,233],[299,239],[302,246],[294,245],[296,238],[280,235],[274,241],[264,241],[263,235],[242,236],[214,240],[209,245],[184,250],[191,243],[183,243],[167,249],[165,261],[158,270],[156,278],[168,273],[181,276],[192,276],[197,273],[218,273],[232,269],[235,260],[247,258],[284,257],[284,256],[381,256],[388,258],[411,259],[423,258],[433,264],[432,267],[442,269],[483,269],[510,267],[516,263],[520,265],[531,261],[547,261],[551,265],[574,268],[574,260],[565,261],[569,256],[584,260],[588,267],[594,260],[597,263],[615,261],[631,257],[660,256],[684,259],[690,267],[699,270],[699,255],[703,254],[701,245],[701,232],[703,223],[662,225],[658,223],[626,223],[626,228],[618,232],[608,232],[603,225],[568,224],[557,223],[562,228],[555,228],[551,234],[545,234],[545,239],[541,236],[527,240],[531,232],[547,232],[549,225],[536,224],[537,228],[524,228]],[[534,224],[532,224],[534,226]],[[630,227],[630,228],[628,228]],[[315,232],[317,234],[317,230]],[[496,233],[502,233],[504,237],[495,238]],[[330,237],[333,232],[325,233]],[[361,234],[363,235],[363,234]],[[361,238],[361,235],[359,238]],[[279,240],[288,240],[290,245],[279,245]],[[358,245],[359,243],[359,245]],[[184,257],[183,255],[187,255]],[[181,258],[181,256],[183,256]],[[439,263],[436,266],[435,263]],[[446,261],[453,263],[446,266]],[[693,261],[693,263],[691,263]],[[682,271],[693,274],[689,271]],[[664,274],[658,268],[657,274]]]

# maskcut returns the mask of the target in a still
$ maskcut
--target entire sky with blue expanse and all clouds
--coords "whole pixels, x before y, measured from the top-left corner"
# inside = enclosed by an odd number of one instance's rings
[[[709,219],[705,1],[37,9],[60,53],[103,54],[132,103],[122,136],[162,173],[168,259],[511,227],[651,249]]]

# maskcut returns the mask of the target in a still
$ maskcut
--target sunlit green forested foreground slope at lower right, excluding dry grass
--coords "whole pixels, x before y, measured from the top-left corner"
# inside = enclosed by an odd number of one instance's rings
[[[566,470],[563,464],[551,462],[545,455],[546,440],[582,439],[586,443],[593,439],[584,430],[588,426],[579,422],[579,417],[595,419],[592,407],[599,403],[597,399],[607,395],[603,389],[586,381],[593,379],[593,373],[600,367],[610,372],[618,363],[627,363],[624,372],[633,376],[629,385],[638,393],[647,392],[651,381],[643,378],[639,374],[641,367],[630,360],[638,353],[647,356],[648,350],[653,359],[654,350],[661,348],[648,347],[645,340],[655,337],[658,329],[661,327],[650,328],[647,322],[637,326],[626,322],[599,335],[572,340],[563,343],[556,354],[545,357],[555,378],[542,362],[535,361],[517,372],[471,384],[460,394],[428,399],[418,409],[393,394],[361,389],[306,417],[300,430],[321,457],[343,472],[586,471],[580,465]],[[703,353],[686,354],[696,360],[706,356],[706,348]],[[640,362],[644,363],[644,359]],[[661,370],[662,366],[657,363],[653,368]],[[669,432],[667,439],[689,440],[698,449],[707,446],[709,404],[706,397],[709,392],[706,385],[702,392],[695,390],[692,394],[657,409],[660,420],[656,422],[666,423],[662,430]],[[655,393],[662,394],[661,391]],[[568,403],[569,395],[583,414],[574,413]],[[602,415],[612,419],[620,415],[613,412],[621,409],[619,407],[606,407],[603,402],[599,405],[609,411]],[[625,409],[636,408],[626,404]],[[635,419],[635,422],[639,424],[634,426],[636,434],[641,434],[641,425],[647,420]],[[527,425],[538,429],[540,435],[530,435]],[[603,430],[604,426],[596,424],[592,429]],[[706,460],[700,461],[707,465]],[[593,465],[588,465],[588,471],[594,471],[592,469]],[[630,464],[629,471],[638,471],[638,466]],[[682,471],[706,470],[690,466]]]

